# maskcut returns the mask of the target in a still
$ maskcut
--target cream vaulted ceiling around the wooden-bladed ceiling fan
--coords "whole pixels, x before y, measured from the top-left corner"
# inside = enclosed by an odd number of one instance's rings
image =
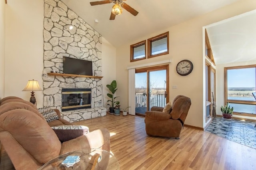
[[[115,20],[109,20],[114,3],[91,6],[90,2],[95,0],[62,1],[118,47],[238,0],[126,0],[138,15],[123,10]]]

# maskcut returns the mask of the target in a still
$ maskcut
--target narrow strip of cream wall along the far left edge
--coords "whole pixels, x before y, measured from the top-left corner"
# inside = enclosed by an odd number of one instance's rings
[[[4,97],[5,6],[4,1],[0,1],[0,99]]]

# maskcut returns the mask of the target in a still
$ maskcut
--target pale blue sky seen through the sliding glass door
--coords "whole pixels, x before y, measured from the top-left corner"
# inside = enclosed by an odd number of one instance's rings
[[[147,73],[136,73],[135,74],[135,88],[146,87]],[[150,82],[154,88],[164,88],[166,80],[166,70],[152,71],[150,72]]]

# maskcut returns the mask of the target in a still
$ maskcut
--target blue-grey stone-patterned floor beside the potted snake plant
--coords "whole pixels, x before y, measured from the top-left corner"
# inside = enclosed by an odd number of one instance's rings
[[[216,117],[205,131],[256,149],[256,128],[254,126],[255,122]]]

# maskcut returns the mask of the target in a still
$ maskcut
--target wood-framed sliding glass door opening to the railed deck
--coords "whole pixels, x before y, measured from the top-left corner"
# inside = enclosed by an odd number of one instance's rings
[[[136,114],[168,102],[169,65],[137,69],[135,73]]]

